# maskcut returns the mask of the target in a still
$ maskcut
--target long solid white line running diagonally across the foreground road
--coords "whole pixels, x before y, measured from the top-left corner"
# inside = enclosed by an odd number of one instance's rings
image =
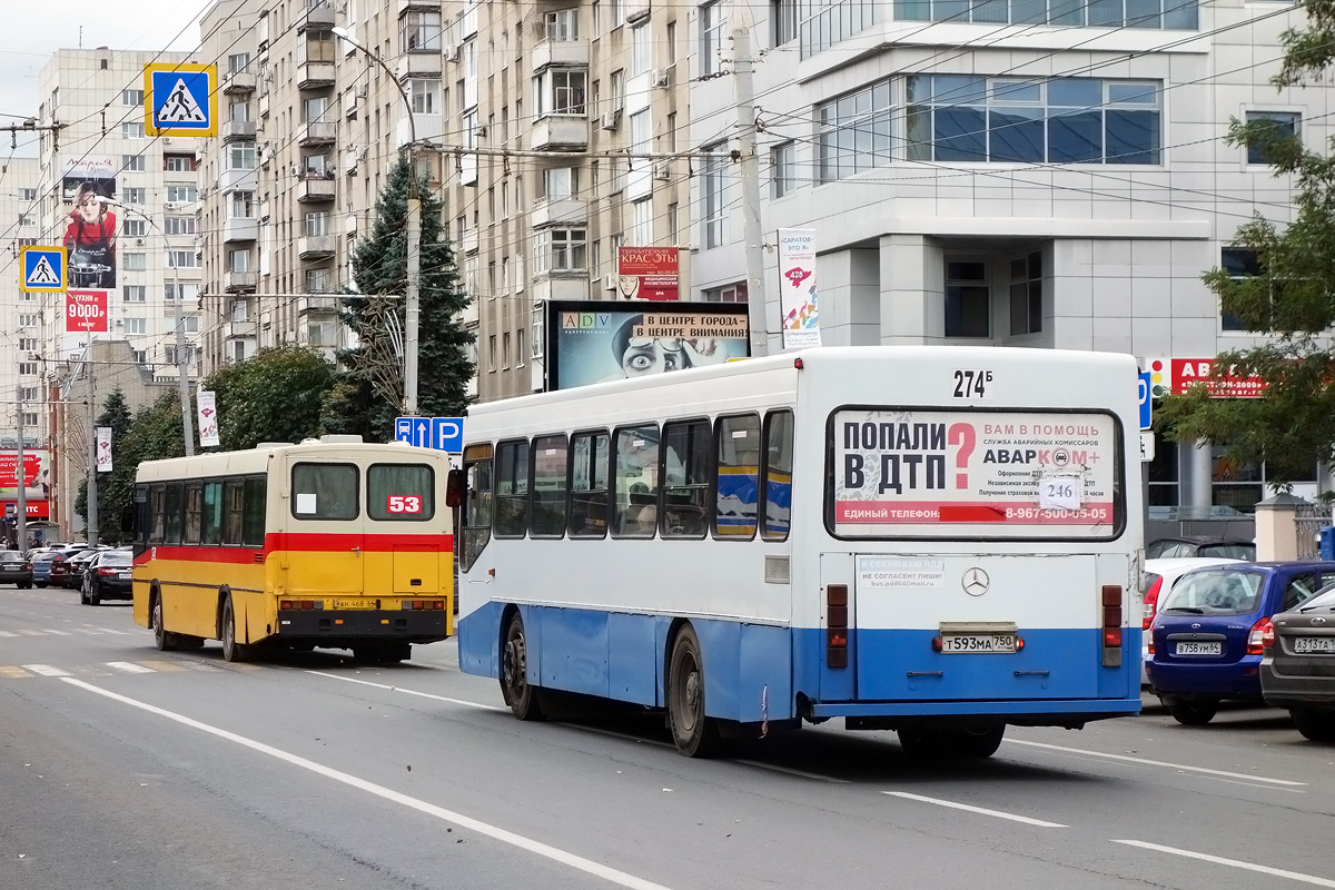
[[[291,754],[282,749],[276,749],[271,745],[264,745],[263,742],[256,742],[255,739],[246,738],[244,735],[238,735],[236,733],[231,733],[228,730],[219,729],[208,723],[203,723],[194,718],[186,717],[184,714],[176,714],[175,711],[168,711],[166,709],[158,707],[156,705],[140,702],[139,699],[134,699],[127,695],[120,695],[119,693],[112,693],[111,690],[104,690],[99,686],[93,686],[92,683],[85,683],[84,681],[75,679],[73,677],[65,677],[63,682],[69,683],[71,686],[77,686],[79,689],[87,690],[96,695],[103,695],[115,702],[120,702],[121,705],[128,705],[131,707],[138,707],[139,710],[148,711],[150,714],[164,717],[168,721],[175,721],[176,723],[180,723],[182,726],[188,726],[202,733],[208,733],[210,735],[215,735],[228,742],[235,742],[236,745],[248,747],[252,751],[267,754],[286,763],[291,763],[292,766],[299,766],[303,770],[310,770],[316,775],[323,775],[324,778],[334,779],[335,782],[340,782],[350,787],[358,789],[359,791],[374,794],[375,797],[390,801],[391,803],[406,806],[409,809],[417,810],[418,813],[423,813],[426,815],[441,819],[442,822],[450,822],[451,825],[457,825],[461,829],[475,831],[477,834],[491,838],[493,841],[499,841],[501,843],[509,843],[510,846],[518,847],[527,853],[533,853],[546,859],[551,859],[553,862],[557,862],[559,865],[577,869],[595,878],[602,878],[609,883],[615,883],[622,887],[630,887],[631,890],[669,890],[666,886],[661,883],[654,883],[653,881],[638,878],[626,871],[611,869],[609,866],[602,865],[601,862],[594,862],[593,859],[586,859],[585,857],[569,853],[566,850],[561,850],[559,847],[542,843],[541,841],[526,838],[522,834],[507,831],[502,827],[490,825],[487,822],[482,822],[481,819],[474,819],[473,817],[463,815],[462,813],[447,810],[434,803],[427,803],[426,801],[421,801],[400,791],[387,789],[382,785],[375,785],[374,782],[368,782],[348,773],[335,770],[332,767],[324,766],[323,763],[308,761],[304,757]]]

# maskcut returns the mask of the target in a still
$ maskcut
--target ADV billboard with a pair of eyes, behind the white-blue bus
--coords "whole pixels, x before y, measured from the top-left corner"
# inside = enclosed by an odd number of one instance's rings
[[[749,354],[745,304],[673,303],[658,310],[547,302],[547,390],[722,364]]]

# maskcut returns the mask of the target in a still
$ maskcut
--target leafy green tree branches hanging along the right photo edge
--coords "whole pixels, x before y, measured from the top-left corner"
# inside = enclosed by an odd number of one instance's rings
[[[1335,63],[1335,0],[1308,0],[1306,28],[1284,32],[1276,88],[1320,81]],[[1204,282],[1224,312],[1270,342],[1219,355],[1220,374],[1256,375],[1256,399],[1211,399],[1207,387],[1167,399],[1161,419],[1179,442],[1227,446],[1238,462],[1267,462],[1267,479],[1288,490],[1316,462],[1335,462],[1335,350],[1323,332],[1335,327],[1335,144],[1304,148],[1272,121],[1232,120],[1227,140],[1255,147],[1276,177],[1294,181],[1287,224],[1260,213],[1243,224],[1234,246],[1255,252],[1259,274],[1234,278],[1215,268]]]

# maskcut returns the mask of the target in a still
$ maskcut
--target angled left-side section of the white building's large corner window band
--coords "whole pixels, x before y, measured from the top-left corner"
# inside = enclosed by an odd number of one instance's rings
[[[840,96],[816,109],[822,183],[890,163],[890,81]]]

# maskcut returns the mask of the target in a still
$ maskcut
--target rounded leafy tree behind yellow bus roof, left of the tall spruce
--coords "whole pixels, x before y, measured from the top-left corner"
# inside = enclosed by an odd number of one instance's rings
[[[318,350],[260,350],[208,375],[218,395],[218,438],[224,451],[260,442],[300,442],[320,434],[320,407],[335,383],[334,364]]]

